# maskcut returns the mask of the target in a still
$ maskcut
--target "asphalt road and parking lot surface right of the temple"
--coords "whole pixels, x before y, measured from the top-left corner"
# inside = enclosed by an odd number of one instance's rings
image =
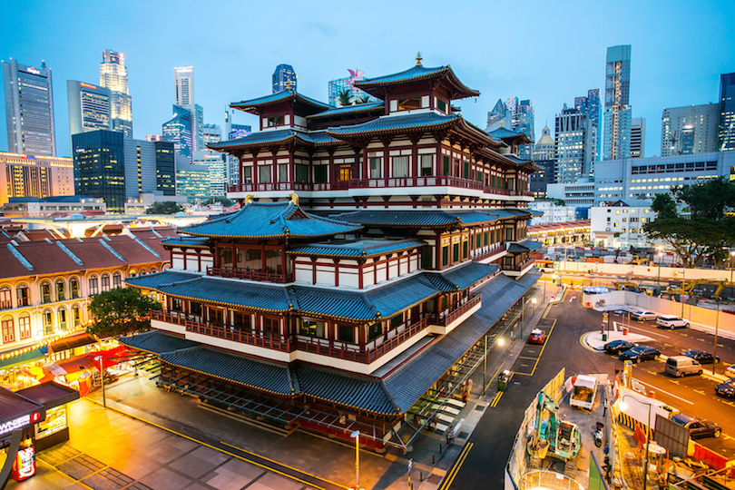
[[[604,354],[593,352],[583,346],[583,334],[601,328],[602,313],[583,309],[580,291],[570,290],[564,302],[551,306],[546,319],[556,319],[554,329],[547,338],[540,358],[533,369],[533,376],[520,373],[531,372],[528,361],[518,358],[511,369],[516,374],[510,386],[495,407],[489,407],[485,416],[475,427],[470,437],[474,443],[456,478],[451,485],[454,489],[502,488],[505,480],[505,463],[513,446],[515,435],[523,421],[524,409],[534,400],[541,387],[554,377],[561,368],[566,373],[607,373],[613,377],[615,368],[622,368],[622,361]],[[611,315],[612,321],[622,317]],[[700,348],[711,351],[713,336],[691,328],[662,330],[654,322],[632,322],[632,331],[642,333],[654,340],[650,343],[659,348],[662,354],[677,355],[686,348]],[[722,359],[718,365],[720,373],[724,367],[735,363],[735,341],[719,339],[717,354]],[[708,418],[720,424],[723,434],[719,439],[713,437],[699,439],[704,446],[724,456],[735,455],[735,402],[717,397],[714,380],[704,376],[672,378],[663,374],[662,361],[645,361],[633,368],[633,376],[656,392],[656,397],[676,407],[683,413]]]

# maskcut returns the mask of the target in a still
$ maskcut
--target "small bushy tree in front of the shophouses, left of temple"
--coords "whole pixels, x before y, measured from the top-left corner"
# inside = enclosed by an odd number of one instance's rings
[[[161,304],[134,288],[117,288],[95,294],[89,304],[93,324],[87,333],[99,338],[118,337],[151,329],[151,310]]]

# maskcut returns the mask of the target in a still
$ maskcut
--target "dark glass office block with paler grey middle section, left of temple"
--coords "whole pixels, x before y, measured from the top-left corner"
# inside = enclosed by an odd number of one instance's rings
[[[125,201],[141,192],[175,193],[171,142],[97,130],[74,134],[72,148],[76,193],[103,198],[108,211],[122,212]]]

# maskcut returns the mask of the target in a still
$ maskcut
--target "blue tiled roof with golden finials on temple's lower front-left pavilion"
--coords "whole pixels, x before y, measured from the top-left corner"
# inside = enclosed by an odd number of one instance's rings
[[[362,226],[301,211],[293,202],[249,202],[240,211],[193,224],[180,231],[196,236],[246,240],[328,237]]]

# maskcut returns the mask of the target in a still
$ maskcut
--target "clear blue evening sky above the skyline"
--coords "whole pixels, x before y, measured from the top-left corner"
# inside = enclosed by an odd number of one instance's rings
[[[104,49],[125,54],[136,138],[171,117],[174,66],[193,65],[204,121],[228,103],[270,93],[277,64],[293,65],[299,92],[327,102],[330,79],[451,64],[481,96],[458,103],[484,128],[498,98],[535,107],[544,122],[604,85],[607,46],[632,44],[633,117],[647,120],[646,156],[661,152],[664,107],[716,103],[720,73],[735,72],[735,2],[218,2],[32,1],[0,5],[0,58],[53,69],[56,144],[69,155],[66,81],[99,83]],[[235,122],[253,123],[249,114]],[[7,150],[0,103],[0,151]]]

